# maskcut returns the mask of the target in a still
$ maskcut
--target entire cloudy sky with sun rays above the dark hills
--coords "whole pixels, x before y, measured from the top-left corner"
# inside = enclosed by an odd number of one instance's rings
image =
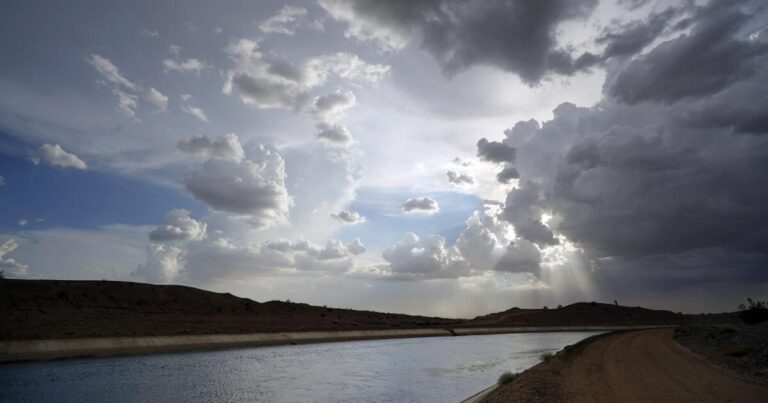
[[[0,6],[0,270],[447,317],[768,297],[760,1]]]

